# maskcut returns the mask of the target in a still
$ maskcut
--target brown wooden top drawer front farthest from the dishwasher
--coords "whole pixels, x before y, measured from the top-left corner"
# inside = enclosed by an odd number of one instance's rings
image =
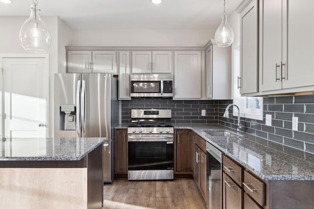
[[[265,183],[244,171],[244,191],[261,206],[265,205]]]

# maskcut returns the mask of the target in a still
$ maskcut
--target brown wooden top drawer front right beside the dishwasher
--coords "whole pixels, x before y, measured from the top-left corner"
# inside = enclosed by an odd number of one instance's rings
[[[223,166],[223,170],[225,171],[225,173],[228,174],[235,181],[236,184],[242,186],[243,168],[230,160],[225,155],[223,156]]]

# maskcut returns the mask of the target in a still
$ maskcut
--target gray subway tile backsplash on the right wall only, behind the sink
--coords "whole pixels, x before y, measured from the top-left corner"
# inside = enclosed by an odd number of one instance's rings
[[[237,117],[231,116],[234,123],[223,117],[231,103],[218,101],[219,124],[236,129]],[[272,126],[265,125],[266,114],[272,116]],[[298,117],[298,131],[292,131],[292,116]],[[241,124],[246,133],[314,153],[314,95],[264,97],[263,120],[241,117]]]

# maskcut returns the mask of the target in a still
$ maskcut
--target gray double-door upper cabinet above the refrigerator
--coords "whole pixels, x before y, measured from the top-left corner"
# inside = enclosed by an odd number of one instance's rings
[[[67,51],[67,72],[116,74],[116,51]]]

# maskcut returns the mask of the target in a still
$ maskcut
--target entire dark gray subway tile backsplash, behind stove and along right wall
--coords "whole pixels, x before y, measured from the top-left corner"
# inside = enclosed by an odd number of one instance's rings
[[[173,123],[221,124],[236,129],[237,117],[223,117],[232,101],[132,98],[122,101],[122,123],[131,122],[131,109],[165,108],[172,110]],[[206,116],[201,116],[202,110]],[[265,125],[266,114],[272,116],[272,126]],[[298,117],[298,131],[292,131],[292,116]],[[241,117],[241,124],[246,133],[314,153],[314,95],[264,97],[263,120]]]

